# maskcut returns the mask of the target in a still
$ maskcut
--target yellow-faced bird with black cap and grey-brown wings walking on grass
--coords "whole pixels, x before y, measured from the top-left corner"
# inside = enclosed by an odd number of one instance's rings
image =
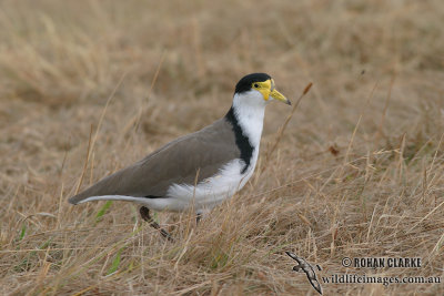
[[[240,191],[254,172],[265,106],[271,101],[291,105],[266,73],[251,73],[235,85],[228,113],[200,131],[180,136],[83,192],[71,204],[127,201],[142,205],[142,218],[160,229],[150,210],[193,208],[198,222]],[[171,238],[161,229],[163,236]]]

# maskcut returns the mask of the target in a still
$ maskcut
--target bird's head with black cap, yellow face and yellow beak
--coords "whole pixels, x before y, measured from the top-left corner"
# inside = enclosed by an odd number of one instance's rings
[[[251,90],[259,91],[262,93],[263,99],[269,101],[270,98],[284,102],[291,105],[289,99],[286,99],[282,93],[280,93],[274,88],[274,80],[266,73],[252,73],[243,76],[236,84],[234,94],[249,92]]]

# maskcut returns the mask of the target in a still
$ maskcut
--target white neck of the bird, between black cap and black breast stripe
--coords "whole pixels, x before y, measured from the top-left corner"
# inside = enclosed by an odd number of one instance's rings
[[[233,110],[239,125],[254,149],[259,149],[261,143],[266,104],[262,94],[256,93],[259,92],[250,91],[245,94],[234,94],[233,98]]]

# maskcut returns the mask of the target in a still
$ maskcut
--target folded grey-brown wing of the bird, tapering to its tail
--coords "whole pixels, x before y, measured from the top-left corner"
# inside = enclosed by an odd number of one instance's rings
[[[69,198],[69,202],[77,204],[87,197],[100,195],[162,197],[171,184],[193,184],[196,175],[200,182],[214,175],[225,163],[239,157],[240,150],[231,124],[221,119],[102,178]]]

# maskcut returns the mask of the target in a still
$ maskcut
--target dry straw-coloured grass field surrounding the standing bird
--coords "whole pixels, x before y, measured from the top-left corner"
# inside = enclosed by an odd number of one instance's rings
[[[444,4],[427,1],[1,1],[1,295],[317,295],[317,277],[444,280]],[[253,177],[195,226],[67,198],[223,116],[271,74]],[[421,257],[354,268],[344,257]],[[324,295],[443,295],[325,284]]]

